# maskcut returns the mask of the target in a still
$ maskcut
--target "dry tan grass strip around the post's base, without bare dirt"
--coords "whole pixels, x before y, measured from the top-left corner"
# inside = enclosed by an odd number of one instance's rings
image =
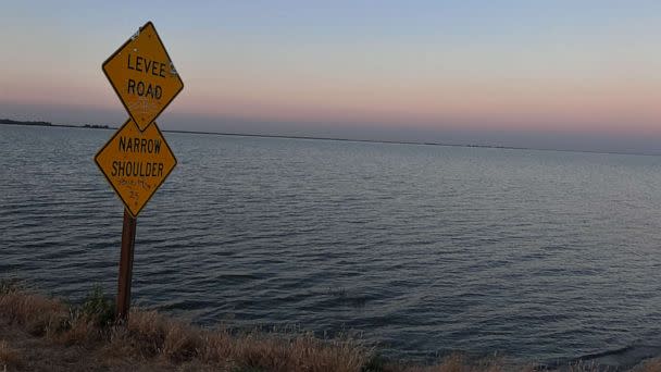
[[[155,311],[134,310],[125,324],[102,325],[93,314],[17,289],[0,293],[0,317],[53,345],[84,347],[111,369],[120,361],[165,370],[348,372],[360,371],[371,352],[350,339],[202,330]],[[9,361],[14,354],[4,347]]]

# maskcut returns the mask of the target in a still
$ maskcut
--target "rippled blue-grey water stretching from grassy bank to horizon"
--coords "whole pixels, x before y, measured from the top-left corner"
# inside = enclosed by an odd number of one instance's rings
[[[114,293],[111,131],[0,126],[0,275]],[[134,302],[391,358],[661,355],[661,158],[165,134]]]

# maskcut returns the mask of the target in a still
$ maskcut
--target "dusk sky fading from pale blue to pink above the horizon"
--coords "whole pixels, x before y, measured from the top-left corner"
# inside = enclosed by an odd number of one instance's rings
[[[660,1],[13,1],[0,117],[121,125],[147,21],[165,129],[661,153]]]

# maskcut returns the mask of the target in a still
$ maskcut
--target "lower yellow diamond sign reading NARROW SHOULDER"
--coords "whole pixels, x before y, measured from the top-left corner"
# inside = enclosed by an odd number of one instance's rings
[[[177,164],[157,123],[140,132],[133,120],[99,150],[95,161],[134,216]]]

